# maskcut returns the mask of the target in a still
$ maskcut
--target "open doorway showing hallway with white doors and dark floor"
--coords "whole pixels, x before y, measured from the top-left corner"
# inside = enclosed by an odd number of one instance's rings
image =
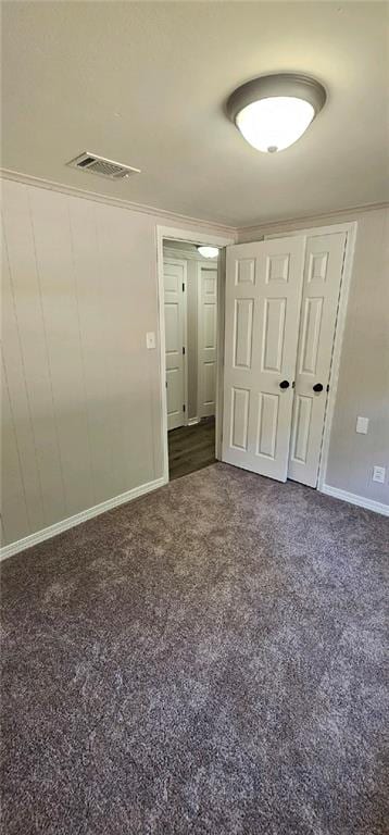
[[[218,248],[163,239],[168,477],[215,462]]]

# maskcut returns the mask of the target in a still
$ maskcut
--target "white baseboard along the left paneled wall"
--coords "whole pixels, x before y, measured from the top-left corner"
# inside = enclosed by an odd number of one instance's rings
[[[68,519],[63,519],[61,522],[55,522],[54,525],[43,527],[42,531],[37,531],[35,534],[25,536],[23,539],[17,539],[15,543],[11,543],[11,545],[5,545],[0,549],[0,560],[7,560],[8,557],[12,557],[14,553],[18,553],[18,551],[24,551],[25,548],[32,548],[33,545],[43,543],[45,539],[51,539],[52,536],[57,536],[57,534],[61,534],[63,531],[68,531],[70,527],[76,527],[81,522],[87,522],[88,519],[105,513],[106,510],[112,510],[120,504],[137,499],[138,496],[156,490],[158,487],[162,487],[164,484],[166,484],[165,478],[155,478],[154,482],[141,484],[139,487],[134,487],[131,490],[122,493],[120,496],[101,501],[100,504],[95,504],[95,507],[88,508],[88,510],[81,510],[80,513],[76,513],[74,516],[68,516]]]

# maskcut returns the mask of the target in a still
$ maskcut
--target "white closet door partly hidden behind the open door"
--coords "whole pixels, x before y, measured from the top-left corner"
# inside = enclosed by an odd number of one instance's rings
[[[288,478],[316,487],[346,233],[306,238]]]

